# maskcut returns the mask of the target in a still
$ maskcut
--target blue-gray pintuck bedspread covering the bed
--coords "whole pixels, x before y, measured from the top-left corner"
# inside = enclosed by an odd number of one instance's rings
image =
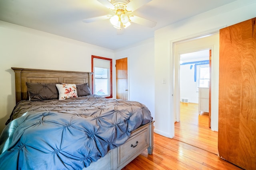
[[[143,104],[96,95],[23,100],[0,137],[0,168],[83,169],[151,121]]]

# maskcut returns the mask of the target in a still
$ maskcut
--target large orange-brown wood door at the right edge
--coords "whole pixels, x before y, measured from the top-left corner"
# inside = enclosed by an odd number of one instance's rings
[[[256,18],[220,30],[221,158],[256,170]]]

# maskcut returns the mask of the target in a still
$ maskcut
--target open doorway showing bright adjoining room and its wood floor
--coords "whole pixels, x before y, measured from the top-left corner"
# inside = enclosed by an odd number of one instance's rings
[[[217,154],[218,133],[209,128],[209,51],[180,55],[180,121],[175,123],[174,139]]]

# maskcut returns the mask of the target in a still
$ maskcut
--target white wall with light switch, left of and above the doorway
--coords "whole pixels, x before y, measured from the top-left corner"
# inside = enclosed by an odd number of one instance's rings
[[[256,17],[255,0],[237,0],[226,6],[216,8],[198,16],[182,20],[155,31],[155,129],[156,133],[166,137],[174,136],[174,113],[173,109],[173,60],[174,51],[172,44],[176,41],[189,39],[217,31],[222,27]],[[218,70],[212,72],[218,75]],[[217,77],[217,76],[216,76]],[[167,84],[162,84],[165,78]],[[216,82],[213,80],[213,83]],[[217,81],[218,82],[218,81]],[[212,87],[218,86],[213,84]],[[215,89],[216,90],[216,89]],[[218,94],[218,92],[216,92]],[[214,93],[212,93],[214,94]],[[212,99],[218,101],[218,96]],[[218,112],[218,102],[214,106],[214,112]],[[218,119],[214,117],[214,119]],[[218,131],[218,129],[212,129]]]

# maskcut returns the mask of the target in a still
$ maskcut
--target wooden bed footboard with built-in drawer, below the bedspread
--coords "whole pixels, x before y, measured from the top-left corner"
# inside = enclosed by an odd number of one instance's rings
[[[126,143],[110,150],[106,156],[97,162],[92,162],[88,168],[83,170],[121,170],[144,150],[148,149],[152,154],[153,123],[154,121],[133,131]]]

